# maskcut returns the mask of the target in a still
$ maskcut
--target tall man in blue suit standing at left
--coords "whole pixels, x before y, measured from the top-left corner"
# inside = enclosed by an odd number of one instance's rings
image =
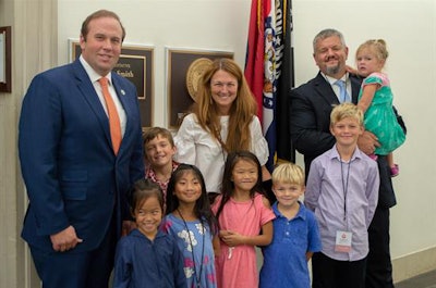
[[[136,89],[111,72],[124,37],[117,14],[90,14],[80,59],[37,75],[23,100],[19,151],[29,204],[22,237],[44,288],[108,287],[129,189],[144,177]],[[118,112],[119,149],[101,77]]]

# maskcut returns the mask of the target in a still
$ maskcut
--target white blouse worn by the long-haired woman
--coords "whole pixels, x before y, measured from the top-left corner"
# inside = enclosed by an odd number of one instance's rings
[[[221,116],[221,139],[226,142],[229,132],[229,116]],[[262,134],[261,122],[253,116],[250,124],[251,148],[261,162],[265,165],[268,160],[268,143]],[[202,172],[208,192],[220,192],[226,151],[209,132],[198,124],[195,114],[191,113],[183,118],[182,125],[174,137],[177,153],[174,160],[180,163],[195,165]]]

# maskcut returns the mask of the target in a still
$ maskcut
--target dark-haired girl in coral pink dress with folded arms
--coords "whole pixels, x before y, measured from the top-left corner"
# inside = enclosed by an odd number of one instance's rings
[[[220,255],[216,258],[219,288],[258,287],[255,246],[272,239],[275,215],[262,193],[262,167],[251,152],[229,154],[222,191],[213,211],[219,224]]]

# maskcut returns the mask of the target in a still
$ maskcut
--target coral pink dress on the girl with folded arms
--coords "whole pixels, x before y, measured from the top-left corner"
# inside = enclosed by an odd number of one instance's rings
[[[221,196],[213,206],[217,213]],[[256,236],[261,227],[276,216],[272,210],[265,206],[262,195],[254,199],[237,202],[232,198],[226,203],[219,215],[221,230],[233,230],[246,236]],[[216,270],[219,288],[254,288],[258,287],[256,251],[253,246],[242,245],[228,247],[220,241],[221,253],[216,258]]]

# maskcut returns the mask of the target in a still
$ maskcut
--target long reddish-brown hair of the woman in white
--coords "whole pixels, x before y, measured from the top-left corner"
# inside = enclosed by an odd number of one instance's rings
[[[218,71],[231,74],[238,80],[238,92],[230,109],[229,133],[226,142],[221,141],[221,124],[217,105],[210,92],[210,79]],[[198,85],[197,102],[192,112],[196,115],[198,124],[208,130],[214,138],[220,141],[222,148],[228,151],[250,150],[251,134],[250,124],[257,112],[257,103],[254,99],[244,74],[239,65],[231,59],[221,58],[215,60],[205,71]]]

